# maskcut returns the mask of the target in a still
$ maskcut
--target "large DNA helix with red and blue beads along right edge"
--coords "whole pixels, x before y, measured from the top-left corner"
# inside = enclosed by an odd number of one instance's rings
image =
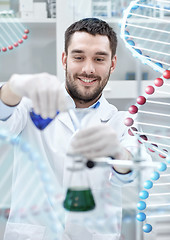
[[[166,17],[169,13],[167,0],[132,1],[121,26],[121,37],[133,56],[162,74],[129,107],[129,117],[125,119],[129,134],[144,144],[152,160],[159,163],[144,182],[137,204],[140,212],[136,218],[143,223],[143,231],[152,234],[156,234],[156,227],[152,226],[155,219],[170,217],[170,21]]]

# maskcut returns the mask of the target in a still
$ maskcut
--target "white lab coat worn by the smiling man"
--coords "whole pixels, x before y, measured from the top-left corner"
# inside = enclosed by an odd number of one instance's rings
[[[83,214],[65,214],[62,196],[63,189],[68,184],[66,166],[70,161],[66,152],[75,129],[68,113],[62,113],[45,130],[40,131],[29,117],[30,107],[30,101],[23,98],[13,114],[1,121],[0,126],[7,128],[11,135],[19,135],[21,143],[25,141],[41,154],[57,197],[54,206],[51,206],[40,186],[41,181],[37,176],[34,177],[34,163],[28,161],[27,151],[21,151],[19,144],[16,145],[11,213],[4,240],[66,240],[67,237],[71,240],[118,240],[121,230],[121,186],[133,180],[133,172],[127,175],[117,174],[110,166],[88,170],[96,209]],[[94,121],[110,124],[116,130],[122,145],[132,150],[136,148],[136,142],[127,133],[125,115],[125,112],[118,111],[102,96]],[[42,211],[44,203],[52,215],[54,212],[60,215],[62,220],[59,219],[58,222],[65,222],[65,230],[61,230],[62,226],[58,223],[57,230],[55,229],[57,232],[52,233],[51,222],[56,222],[56,218],[54,221],[50,217],[48,219],[48,211]],[[33,205],[38,209],[36,214],[29,213]]]

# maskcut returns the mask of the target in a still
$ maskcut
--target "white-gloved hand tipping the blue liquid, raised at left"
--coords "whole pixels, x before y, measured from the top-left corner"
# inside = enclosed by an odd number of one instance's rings
[[[31,99],[36,114],[53,118],[66,106],[64,90],[56,76],[48,73],[18,75],[9,80],[9,87],[19,97]]]

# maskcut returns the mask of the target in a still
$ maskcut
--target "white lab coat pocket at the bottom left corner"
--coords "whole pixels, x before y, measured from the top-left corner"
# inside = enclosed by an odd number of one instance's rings
[[[4,240],[43,240],[44,235],[44,226],[7,223]]]

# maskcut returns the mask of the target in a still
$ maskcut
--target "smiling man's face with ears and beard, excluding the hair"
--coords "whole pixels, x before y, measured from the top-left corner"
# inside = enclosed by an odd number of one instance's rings
[[[76,102],[93,104],[102,93],[114,70],[116,57],[111,57],[107,36],[86,32],[73,34],[68,55],[63,53],[66,89]]]

